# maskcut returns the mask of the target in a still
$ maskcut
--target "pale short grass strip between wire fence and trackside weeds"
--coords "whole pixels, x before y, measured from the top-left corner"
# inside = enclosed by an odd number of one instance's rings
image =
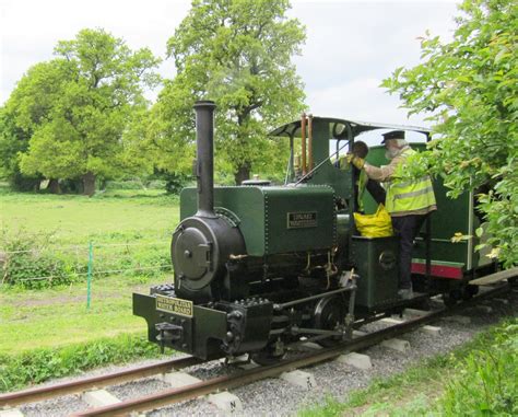
[[[170,281],[165,276],[164,281]],[[155,282],[155,281],[154,281]],[[133,291],[148,292],[151,282],[109,277],[92,283],[86,309],[86,283],[45,290],[0,291],[0,355],[62,347],[120,334],[143,335],[145,321],[132,315]]]

